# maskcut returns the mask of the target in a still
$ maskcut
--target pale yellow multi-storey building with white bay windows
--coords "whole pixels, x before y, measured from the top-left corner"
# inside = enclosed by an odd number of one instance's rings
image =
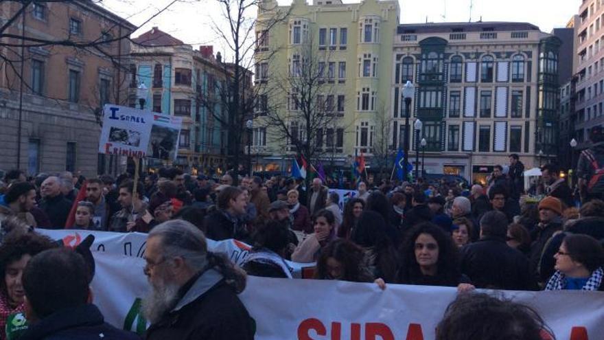
[[[346,166],[361,152],[371,164],[391,114],[392,43],[399,23],[398,1],[342,3],[294,0],[279,6],[265,0],[258,13],[255,51],[257,100],[251,155],[255,170],[287,171],[300,145],[312,161]],[[311,66],[316,65],[316,67]],[[319,70],[308,88],[323,114],[305,124],[304,93],[294,79]],[[311,77],[312,78],[312,77]],[[263,92],[264,91],[264,92]],[[277,113],[288,133],[275,124]],[[312,135],[309,136],[309,133]],[[311,145],[307,145],[311,144]],[[375,163],[374,163],[375,164]]]

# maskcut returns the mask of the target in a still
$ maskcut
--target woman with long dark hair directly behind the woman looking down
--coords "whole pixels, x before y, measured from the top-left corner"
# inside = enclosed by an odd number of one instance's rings
[[[386,234],[386,221],[380,214],[363,212],[351,240],[365,249],[375,277],[381,277],[385,282],[395,282],[397,251]]]

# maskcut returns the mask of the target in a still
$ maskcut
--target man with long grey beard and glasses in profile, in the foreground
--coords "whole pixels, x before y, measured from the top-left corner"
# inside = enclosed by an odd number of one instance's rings
[[[202,231],[185,220],[154,227],[147,238],[143,302],[151,322],[146,339],[254,339],[253,319],[237,297],[246,275],[207,251]]]

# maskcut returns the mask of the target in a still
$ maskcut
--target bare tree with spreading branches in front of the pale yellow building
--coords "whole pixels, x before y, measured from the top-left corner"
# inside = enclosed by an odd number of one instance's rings
[[[343,139],[345,98],[338,95],[336,62],[328,50],[313,48],[312,39],[294,47],[286,74],[271,75],[271,101],[263,121],[278,145],[312,163],[334,155]],[[308,177],[307,177],[308,178]],[[307,183],[308,185],[308,183]]]

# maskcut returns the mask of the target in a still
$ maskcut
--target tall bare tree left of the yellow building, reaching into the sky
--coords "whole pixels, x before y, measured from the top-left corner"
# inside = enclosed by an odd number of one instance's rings
[[[286,19],[289,12],[280,12],[277,5],[266,8],[262,0],[216,0],[222,8],[222,18],[213,20],[212,30],[227,48],[227,55],[221,61],[225,76],[224,84],[217,84],[210,89],[209,95],[198,95],[198,103],[205,106],[213,119],[227,130],[228,155],[233,167],[240,163],[240,155],[244,150],[246,121],[253,118],[254,107],[262,87],[253,87],[252,73],[254,54],[263,45],[264,34],[255,34],[256,26],[262,30],[270,30],[274,25]],[[262,21],[256,19],[257,12],[270,12],[272,15]],[[276,53],[272,51],[264,55],[268,60]],[[231,58],[231,62],[227,61]],[[256,60],[257,61],[257,60]]]

